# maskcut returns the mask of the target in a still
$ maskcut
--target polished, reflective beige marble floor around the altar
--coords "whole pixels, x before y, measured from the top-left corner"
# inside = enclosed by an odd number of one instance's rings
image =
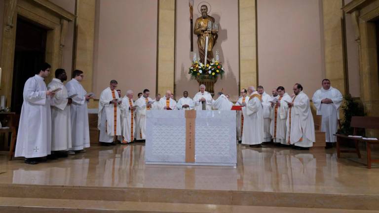
[[[0,155],[0,183],[379,195],[379,164],[334,149],[238,145],[237,167],[145,165],[144,143],[94,146],[38,165]]]

